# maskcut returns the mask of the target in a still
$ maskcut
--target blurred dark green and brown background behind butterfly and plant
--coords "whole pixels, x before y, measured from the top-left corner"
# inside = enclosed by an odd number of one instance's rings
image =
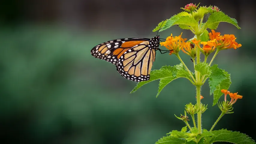
[[[0,4],[0,129],[3,143],[150,144],[184,126],[174,117],[185,104],[195,103],[195,87],[176,79],[158,98],[158,81],[141,87],[124,79],[109,62],[90,50],[102,42],[132,37],[152,38],[158,22],[194,2],[216,5],[237,19],[240,30],[227,23],[217,29],[234,34],[239,49],[221,51],[214,64],[231,74],[230,91],[243,95],[233,114],[215,130],[240,131],[256,140],[255,132],[255,3],[246,0],[4,0]],[[160,32],[192,38],[173,26]],[[162,48],[164,49],[164,48]],[[213,55],[213,54],[212,54]],[[211,56],[212,56],[211,55]],[[181,54],[185,63],[192,62]],[[157,52],[152,69],[179,64]],[[220,115],[203,85],[203,128]],[[223,99],[223,97],[221,98]]]

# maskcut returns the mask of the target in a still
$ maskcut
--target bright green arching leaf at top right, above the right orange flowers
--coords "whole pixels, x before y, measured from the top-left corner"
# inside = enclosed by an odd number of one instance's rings
[[[237,29],[241,29],[238,24],[237,21],[233,18],[230,18],[229,16],[227,16],[226,14],[224,14],[221,11],[212,13],[207,22],[206,22],[206,28],[209,29],[217,29],[218,25],[220,22],[228,22],[233,24],[234,26],[236,26]]]

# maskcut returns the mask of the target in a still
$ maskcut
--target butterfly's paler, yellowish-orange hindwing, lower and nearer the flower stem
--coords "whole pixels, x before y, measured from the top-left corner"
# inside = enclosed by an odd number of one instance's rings
[[[149,80],[153,61],[155,49],[150,48],[149,41],[145,41],[124,52],[118,59],[116,69],[126,79],[146,81]]]

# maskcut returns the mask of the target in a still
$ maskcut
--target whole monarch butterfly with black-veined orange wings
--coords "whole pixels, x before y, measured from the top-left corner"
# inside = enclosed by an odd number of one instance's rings
[[[92,56],[116,65],[116,70],[126,79],[140,82],[150,78],[150,70],[159,47],[159,36],[124,38],[95,46]]]

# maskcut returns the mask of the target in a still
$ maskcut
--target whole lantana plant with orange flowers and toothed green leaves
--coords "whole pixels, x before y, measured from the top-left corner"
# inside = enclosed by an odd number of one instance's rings
[[[161,46],[165,46],[170,50],[169,54],[175,55],[181,63],[175,66],[163,66],[160,70],[152,70],[150,79],[139,82],[131,91],[131,93],[134,93],[142,85],[160,79],[159,89],[156,95],[158,97],[161,90],[168,83],[180,77],[188,79],[196,86],[196,103],[186,104],[184,115],[175,115],[176,118],[185,122],[186,126],[181,131],[171,131],[166,137],[158,140],[156,144],[212,144],[215,142],[255,144],[251,137],[240,132],[229,131],[227,129],[213,130],[225,114],[233,113],[234,104],[238,99],[243,97],[238,95],[237,92],[231,93],[228,91],[231,84],[230,74],[218,68],[217,64],[212,65],[212,61],[221,50],[237,49],[242,46],[236,42],[234,35],[221,35],[220,32],[215,32],[220,22],[228,22],[240,29],[236,19],[230,18],[216,6],[199,7],[199,4],[191,3],[181,9],[184,11],[172,16],[170,19],[160,22],[153,30],[153,32],[158,30],[161,32],[171,26],[178,25],[181,29],[190,30],[194,34],[194,38],[189,40],[182,38],[182,33],[179,36],[173,36],[171,34],[165,41],[160,43]],[[184,52],[191,57],[194,63],[193,71],[190,71],[182,61],[179,52]],[[214,54],[210,62],[207,63],[208,56],[211,53]],[[204,61],[201,61],[200,54],[204,55]],[[218,104],[221,110],[220,116],[209,130],[203,129],[201,124],[201,115],[207,110],[207,105],[201,103],[203,96],[200,95],[200,92],[201,86],[205,84],[206,80],[209,83],[210,95],[213,95],[212,106]],[[224,100],[218,102],[222,95],[224,95]],[[194,115],[197,116],[197,123]]]

